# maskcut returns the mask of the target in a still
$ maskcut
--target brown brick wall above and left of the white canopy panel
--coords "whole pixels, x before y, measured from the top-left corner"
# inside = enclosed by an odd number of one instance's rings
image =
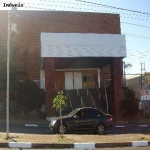
[[[19,18],[12,18],[20,34],[11,34],[11,48],[18,51],[18,68],[27,64],[27,79],[40,80],[41,32],[56,33],[101,33],[120,34],[120,19],[117,14],[22,11]],[[0,43],[6,47],[7,11],[0,11]],[[12,50],[11,50],[12,51]],[[25,55],[24,52],[27,52]],[[0,53],[1,55],[1,53]]]

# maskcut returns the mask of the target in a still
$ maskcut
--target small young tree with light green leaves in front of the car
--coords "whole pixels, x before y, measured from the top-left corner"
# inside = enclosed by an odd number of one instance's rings
[[[55,107],[56,109],[59,109],[60,117],[61,117],[62,116],[62,110],[64,110],[67,107],[67,97],[64,96],[63,91],[58,91],[57,92],[57,96],[53,99],[53,107]],[[62,135],[62,138],[63,138],[62,118],[61,118],[60,122],[61,122],[60,131],[61,131],[61,135]]]

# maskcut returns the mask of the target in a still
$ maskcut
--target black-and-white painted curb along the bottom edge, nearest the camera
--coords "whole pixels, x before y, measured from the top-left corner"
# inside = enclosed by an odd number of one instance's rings
[[[74,149],[94,149],[113,147],[144,147],[149,146],[150,141],[132,141],[121,143],[73,143],[73,144],[43,144],[31,142],[8,142],[0,143],[1,148],[74,148]]]

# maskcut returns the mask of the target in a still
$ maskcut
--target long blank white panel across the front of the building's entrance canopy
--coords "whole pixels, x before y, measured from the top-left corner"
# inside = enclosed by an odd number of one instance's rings
[[[126,57],[125,36],[42,32],[41,57]]]

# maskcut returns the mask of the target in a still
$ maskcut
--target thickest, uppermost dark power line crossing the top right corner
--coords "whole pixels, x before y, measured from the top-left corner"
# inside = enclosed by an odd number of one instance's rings
[[[148,12],[142,12],[142,11],[136,11],[136,10],[131,10],[131,9],[119,8],[119,7],[114,7],[114,6],[104,5],[104,4],[98,4],[98,3],[93,3],[93,2],[87,2],[87,1],[84,1],[84,0],[76,0],[76,1],[83,2],[83,3],[89,3],[89,4],[93,4],[93,5],[99,5],[99,6],[109,7],[109,8],[113,8],[113,9],[119,9],[119,10],[124,10],[124,11],[130,11],[130,12],[133,12],[133,13],[139,13],[139,14],[144,14],[144,15],[150,16],[150,14],[149,14]]]

